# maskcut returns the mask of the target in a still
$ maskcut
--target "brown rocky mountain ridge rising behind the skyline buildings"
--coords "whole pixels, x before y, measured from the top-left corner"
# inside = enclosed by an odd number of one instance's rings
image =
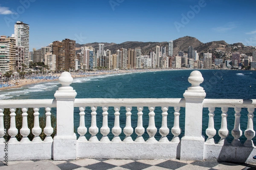
[[[117,49],[120,48],[140,48],[142,51],[142,55],[149,55],[150,51],[156,51],[156,46],[164,46],[166,47],[166,53],[168,54],[168,42],[140,42],[140,41],[125,41],[122,43],[114,43],[114,42],[92,42],[86,44],[78,44],[76,43],[76,50],[79,51],[81,46],[92,46],[95,48],[95,51],[99,49],[99,43],[105,44],[105,50],[111,50],[112,54],[116,53]],[[178,51],[184,51],[187,53],[189,46],[192,46],[194,50],[202,56],[203,53],[211,52],[212,55],[215,55],[217,58],[223,57],[223,54],[231,54],[233,52],[244,53],[249,56],[252,56],[252,51],[255,51],[255,47],[243,45],[241,42],[237,42],[234,44],[228,44],[224,40],[212,41],[203,43],[196,39],[195,37],[185,36],[173,40],[173,54],[174,56],[178,54]]]

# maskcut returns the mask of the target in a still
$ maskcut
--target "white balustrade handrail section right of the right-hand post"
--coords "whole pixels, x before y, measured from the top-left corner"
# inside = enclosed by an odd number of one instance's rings
[[[256,99],[204,99],[203,107],[256,108]]]

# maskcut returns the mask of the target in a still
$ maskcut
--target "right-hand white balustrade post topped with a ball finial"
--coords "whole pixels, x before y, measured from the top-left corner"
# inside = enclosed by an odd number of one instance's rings
[[[186,100],[185,134],[181,138],[180,160],[203,160],[202,113],[206,93],[200,84],[204,78],[200,71],[192,71],[188,81],[191,86],[183,94]]]

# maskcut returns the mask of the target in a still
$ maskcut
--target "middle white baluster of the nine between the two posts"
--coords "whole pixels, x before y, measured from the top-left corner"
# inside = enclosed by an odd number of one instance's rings
[[[131,138],[131,134],[133,133],[133,128],[131,127],[131,107],[128,106],[125,108],[126,110],[126,123],[125,123],[125,128],[124,128],[124,133],[125,133],[125,139],[124,142],[133,142]]]

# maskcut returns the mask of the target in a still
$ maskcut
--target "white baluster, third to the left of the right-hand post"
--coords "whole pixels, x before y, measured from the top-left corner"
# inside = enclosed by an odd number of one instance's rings
[[[148,120],[148,127],[147,127],[147,133],[149,135],[149,138],[146,142],[157,142],[157,139],[155,139],[155,134],[157,133],[157,127],[155,126],[155,122],[154,122],[154,116],[155,116],[155,113],[154,113],[154,109],[155,107],[150,107],[149,108],[149,113],[148,113],[148,116],[149,116],[149,120]]]

